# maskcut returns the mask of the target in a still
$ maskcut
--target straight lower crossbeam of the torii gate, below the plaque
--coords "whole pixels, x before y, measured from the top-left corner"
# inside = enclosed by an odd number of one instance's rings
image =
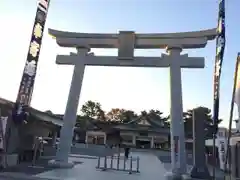
[[[93,54],[57,55],[56,64],[76,65],[78,63],[90,66],[119,66],[119,67],[170,67],[171,55],[161,57],[133,57],[121,60],[116,56],[94,56]],[[189,57],[188,54],[179,56],[181,68],[204,68],[204,57]]]

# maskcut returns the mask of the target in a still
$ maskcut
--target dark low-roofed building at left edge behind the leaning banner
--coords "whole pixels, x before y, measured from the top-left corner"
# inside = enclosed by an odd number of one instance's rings
[[[7,123],[11,124],[12,120],[12,109],[14,103],[0,98],[0,111],[1,117],[7,118]],[[26,122],[19,128],[18,136],[20,143],[20,149],[29,150],[32,149],[35,137],[57,137],[59,135],[60,129],[63,125],[63,121],[53,115],[50,112],[42,112],[37,109],[28,108],[29,116]],[[8,126],[6,128],[6,134],[8,136]],[[8,142],[8,150],[14,149],[16,147],[16,137],[12,137]]]

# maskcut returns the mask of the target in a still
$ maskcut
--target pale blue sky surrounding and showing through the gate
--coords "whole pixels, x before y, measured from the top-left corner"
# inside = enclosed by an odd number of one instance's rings
[[[234,66],[240,51],[240,1],[226,1],[226,50],[224,56],[220,117],[228,125]],[[28,51],[36,1],[4,0],[0,6],[0,96],[15,101]],[[63,49],[47,34],[48,28],[75,32],[164,33],[214,28],[217,25],[217,0],[51,0],[40,54],[32,106],[64,113],[72,76],[71,66],[57,66]],[[95,54],[114,55],[116,50],[93,50]],[[163,50],[136,51],[136,55],[160,56]],[[184,69],[184,110],[196,106],[212,108],[215,41],[205,49],[185,51],[205,57],[204,69]],[[99,101],[104,110],[112,107],[135,111],[159,109],[169,113],[169,69],[87,67],[80,106],[87,100]],[[237,115],[235,110],[235,116]]]

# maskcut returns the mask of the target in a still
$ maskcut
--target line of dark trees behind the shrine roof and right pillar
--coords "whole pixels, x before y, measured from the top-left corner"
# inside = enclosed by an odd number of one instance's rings
[[[212,138],[213,135],[213,124],[212,124],[212,114],[211,110],[207,107],[199,106],[193,109],[190,109],[183,113],[183,121],[185,128],[185,135],[188,138],[192,138],[193,136],[193,111],[197,111],[198,115],[204,117],[205,123],[205,137]],[[105,112],[101,108],[101,104],[99,102],[87,101],[81,108],[82,117],[78,118],[78,124],[81,126],[86,125],[87,118],[94,118],[97,120],[107,120],[111,122],[119,122],[119,123],[128,123],[136,118],[143,117],[149,120],[154,120],[160,122],[163,127],[169,128],[170,121],[169,117],[164,117],[163,112],[155,109],[151,109],[149,111],[141,111],[140,114],[135,113],[132,110],[126,110],[121,108],[112,108],[108,113]],[[199,119],[199,118],[198,118]],[[218,120],[218,124],[222,120]]]

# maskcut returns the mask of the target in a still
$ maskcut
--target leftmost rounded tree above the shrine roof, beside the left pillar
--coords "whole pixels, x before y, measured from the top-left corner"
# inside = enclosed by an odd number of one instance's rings
[[[105,120],[105,113],[99,102],[87,101],[81,108],[83,116]]]

